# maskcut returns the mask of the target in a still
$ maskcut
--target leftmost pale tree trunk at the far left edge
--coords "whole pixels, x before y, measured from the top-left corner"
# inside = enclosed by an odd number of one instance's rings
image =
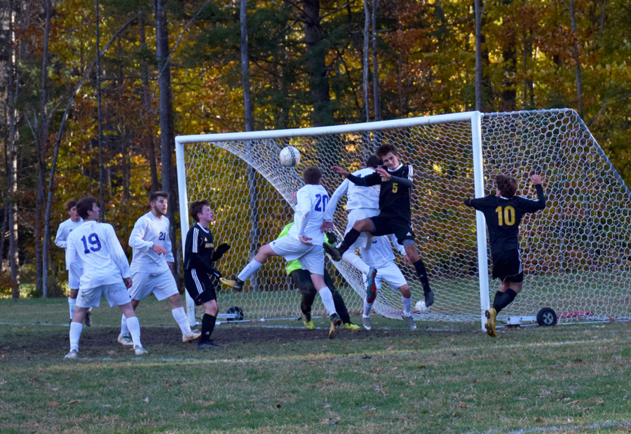
[[[18,147],[15,144],[18,132],[17,111],[15,103],[18,100],[18,77],[15,69],[15,10],[11,1],[9,18],[8,39],[11,41],[10,55],[8,56],[8,86],[7,100],[9,105],[9,260],[11,262],[11,281],[13,292],[11,297],[20,298],[20,256],[18,252]]]

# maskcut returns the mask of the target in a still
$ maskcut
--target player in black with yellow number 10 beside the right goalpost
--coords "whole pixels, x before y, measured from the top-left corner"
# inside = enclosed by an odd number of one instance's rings
[[[532,184],[537,191],[537,200],[515,196],[517,181],[505,175],[495,178],[496,194],[484,198],[466,198],[465,205],[482,211],[489,229],[493,278],[502,281],[495,293],[493,307],[484,315],[488,318],[487,334],[497,336],[495,318],[497,314],[513,302],[524,285],[522,259],[520,257],[520,222],[524,214],[545,208],[545,197],[541,187],[541,176],[532,175]]]

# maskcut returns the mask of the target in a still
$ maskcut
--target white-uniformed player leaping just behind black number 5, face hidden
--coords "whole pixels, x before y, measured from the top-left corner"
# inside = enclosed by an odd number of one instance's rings
[[[371,175],[380,164],[381,160],[379,160],[379,158],[374,155],[369,156],[366,161],[366,167],[353,172],[353,175],[356,177]],[[348,211],[348,219],[344,235],[353,229],[353,224],[355,224],[355,222],[379,215],[379,186],[374,185],[372,187],[361,187],[351,182],[350,179],[344,179],[331,196],[329,207],[327,208],[327,212],[325,212],[325,224],[323,225],[323,230],[332,229],[335,208],[337,208],[339,199],[344,195],[346,195],[346,211]],[[377,270],[376,268],[369,266],[365,261],[362,261],[362,258],[358,257],[358,255],[355,255],[355,249],[359,247],[369,247],[373,240],[374,237],[370,235],[369,232],[362,232],[355,243],[353,243],[353,245],[344,252],[344,255],[342,255],[342,258],[344,258],[346,262],[367,276],[366,297],[370,297],[370,294],[374,293],[376,290],[374,286],[374,278]],[[325,250],[329,253],[329,255],[332,255],[333,259],[337,259],[334,255],[334,251],[332,251],[330,247],[330,245],[325,245]]]

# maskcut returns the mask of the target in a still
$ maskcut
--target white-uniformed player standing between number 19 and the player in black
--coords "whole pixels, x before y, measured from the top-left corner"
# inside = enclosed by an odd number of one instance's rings
[[[129,289],[132,307],[136,310],[140,300],[154,294],[156,299],[168,299],[171,314],[182,332],[182,342],[199,339],[201,332],[191,330],[189,318],[182,306],[175,278],[171,273],[175,258],[171,252],[169,237],[169,219],[166,217],[169,194],[155,191],[149,195],[151,211],[137,219],[129,236],[129,245],[133,248],[130,266],[133,285]],[[127,318],[121,318],[121,334],[118,342],[133,345],[127,327]]]

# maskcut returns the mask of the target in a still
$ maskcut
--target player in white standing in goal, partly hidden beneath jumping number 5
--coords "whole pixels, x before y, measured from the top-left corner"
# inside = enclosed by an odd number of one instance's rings
[[[396,291],[401,292],[401,301],[403,304],[402,318],[407,323],[409,330],[416,330],[416,324],[414,324],[414,318],[410,311],[412,310],[412,292],[409,290],[407,280],[401,273],[401,270],[395,264],[395,255],[392,251],[392,243],[397,247],[397,250],[401,255],[404,255],[406,261],[408,258],[405,256],[405,247],[397,242],[395,235],[389,236],[377,236],[374,238],[372,245],[369,247],[360,247],[360,255],[366,264],[379,270],[374,278],[374,285],[376,290],[381,288],[382,283],[386,282],[390,287]],[[364,313],[362,314],[362,324],[366,330],[372,330],[370,323],[370,311],[374,304],[376,297],[376,290],[371,297],[364,299]]]

